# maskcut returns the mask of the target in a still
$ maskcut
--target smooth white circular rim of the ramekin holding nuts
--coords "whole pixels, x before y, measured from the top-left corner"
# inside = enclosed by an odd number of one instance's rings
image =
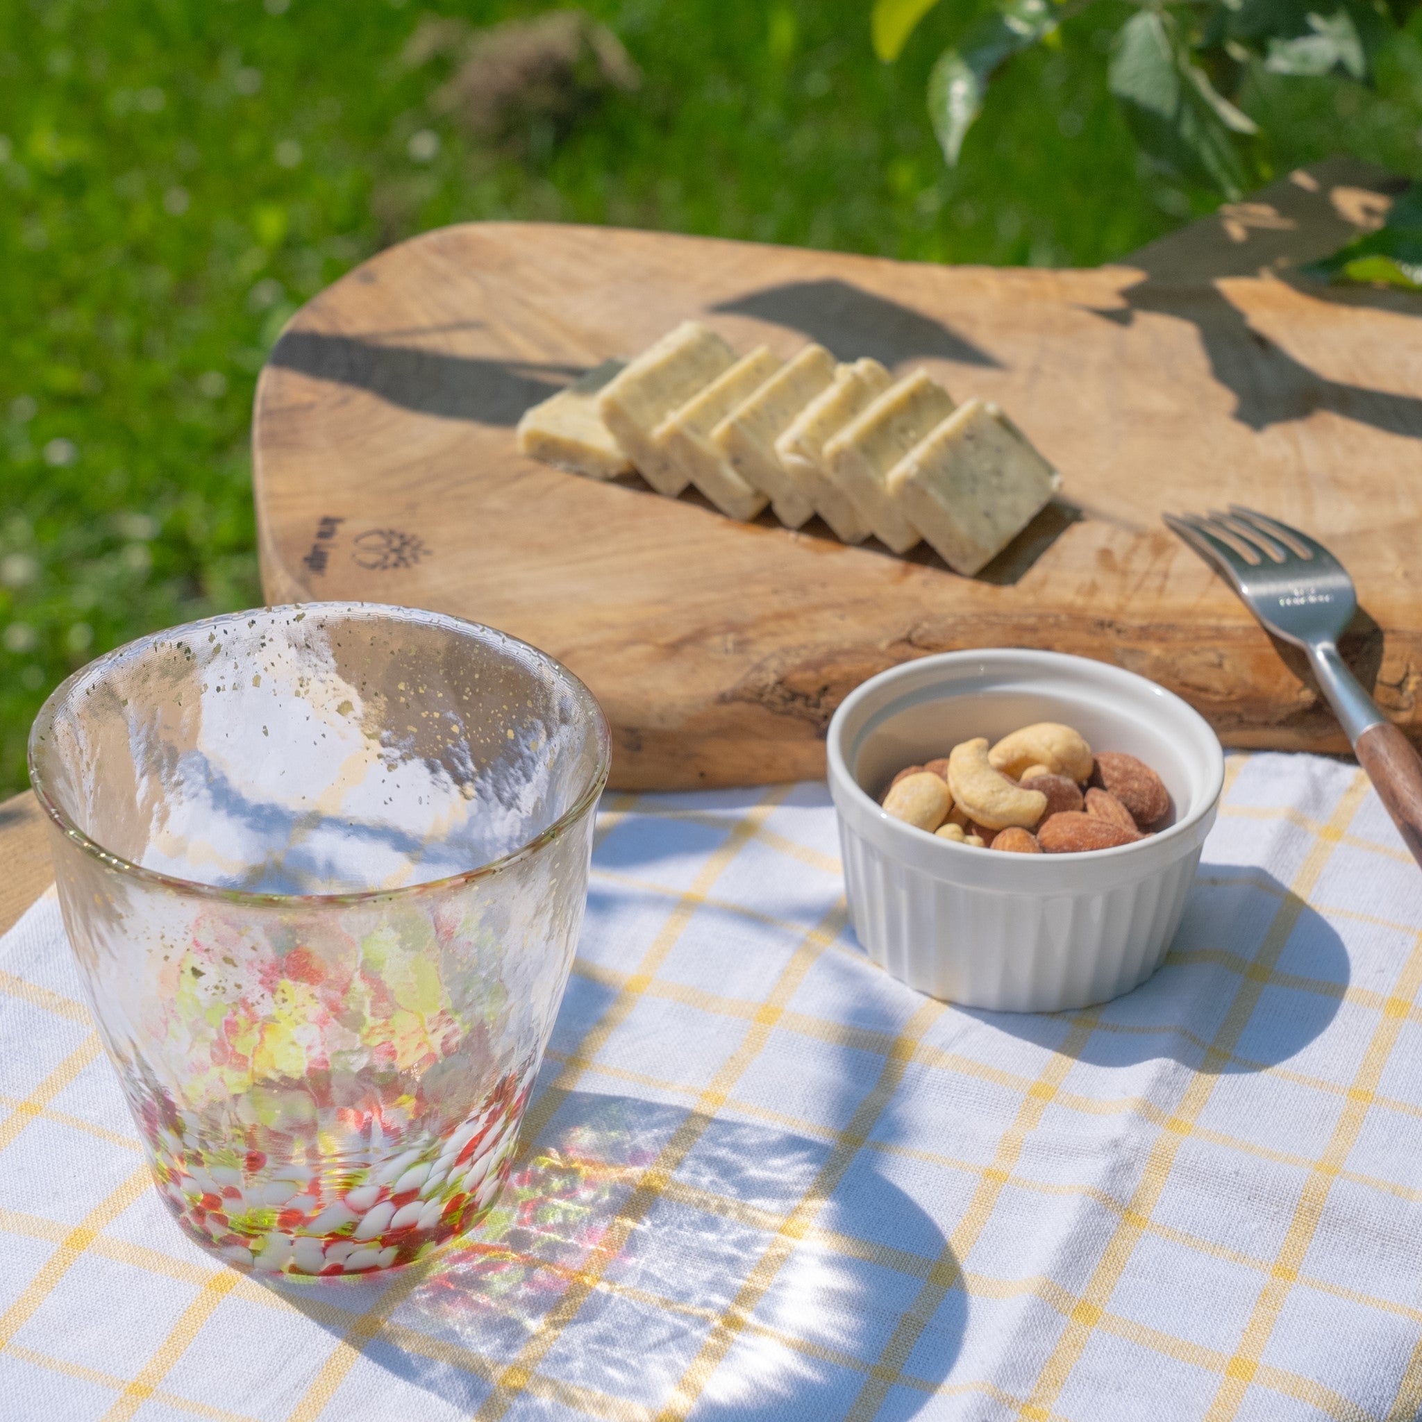
[[[839,704],[830,718],[829,729],[825,737],[830,793],[833,795],[838,785],[839,789],[850,796],[850,802],[862,815],[872,816],[873,822],[882,826],[882,830],[889,835],[890,843],[903,846],[906,855],[912,855],[916,849],[921,850],[926,839],[937,840],[937,836],[926,836],[923,830],[916,829],[913,825],[906,825],[903,820],[894,819],[892,815],[886,815],[875,798],[863,789],[863,786],[860,786],[855,775],[850,774],[849,765],[845,759],[845,727],[853,717],[856,708],[879,693],[880,688],[902,677],[909,677],[916,671],[924,671],[926,664],[961,665],[964,663],[981,661],[984,658],[1001,658],[1004,661],[1021,661],[1024,664],[1035,661],[1045,668],[1049,668],[1052,664],[1059,667],[1082,667],[1089,668],[1089,674],[1103,675],[1106,678],[1113,677],[1138,688],[1149,688],[1150,694],[1163,698],[1163,704],[1172,705],[1172,708],[1179,714],[1183,714],[1186,720],[1193,720],[1200,728],[1204,729],[1207,734],[1207,744],[1210,745],[1212,759],[1209,775],[1210,784],[1206,795],[1202,796],[1199,805],[1192,808],[1187,815],[1183,815],[1167,829],[1158,830],[1156,833],[1130,845],[1118,845],[1113,849],[1079,850],[1068,855],[1010,855],[1000,857],[1020,862],[1022,865],[1022,873],[1045,875],[1047,865],[1059,865],[1062,862],[1072,863],[1082,855],[1089,855],[1092,865],[1099,865],[1105,869],[1108,865],[1122,866],[1123,860],[1129,863],[1128,856],[1136,856],[1138,859],[1173,857],[1173,853],[1186,853],[1189,850],[1190,846],[1186,840],[1197,838],[1202,820],[1207,818],[1213,820],[1224,788],[1224,752],[1209,721],[1206,721],[1204,717],[1202,717],[1200,712],[1196,711],[1194,707],[1192,707],[1183,697],[1176,695],[1173,691],[1162,687],[1158,681],[1152,681],[1149,677],[1142,677],[1136,671],[1128,671],[1125,667],[1118,667],[1109,661],[1096,661],[1092,657],[1078,657],[1065,651],[1048,651],[1035,647],[974,647],[964,648],[961,651],[941,651],[933,653],[927,657],[914,657],[912,661],[902,661],[897,665],[887,667],[884,671],[877,673],[867,681],[862,681]],[[856,833],[862,832],[856,829]],[[1180,842],[1179,845],[1176,843],[1177,840]],[[958,845],[951,839],[937,840],[937,843],[941,845],[943,853],[948,856],[944,860],[944,865],[960,863],[966,866],[966,862],[957,859],[957,856],[977,855],[977,849],[973,845]],[[981,863],[983,860],[973,859],[973,862]],[[1142,869],[1145,870],[1145,865],[1142,865]],[[984,884],[983,887],[987,889],[990,886]]]

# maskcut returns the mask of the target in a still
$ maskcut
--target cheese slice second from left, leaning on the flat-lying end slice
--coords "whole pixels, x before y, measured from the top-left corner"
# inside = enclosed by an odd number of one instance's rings
[[[687,476],[657,447],[657,427],[734,364],[735,351],[715,331],[700,321],[683,321],[603,390],[603,424],[658,493],[678,495]]]

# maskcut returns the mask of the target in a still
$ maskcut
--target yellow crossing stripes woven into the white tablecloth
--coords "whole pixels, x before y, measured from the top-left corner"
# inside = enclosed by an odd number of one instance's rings
[[[1243,764],[1243,758],[1230,761],[1231,779]],[[1291,892],[1287,894],[1260,877],[1207,880],[1250,883],[1251,887],[1273,893],[1278,899],[1274,921],[1266,934],[1263,947],[1253,958],[1246,960],[1226,950],[1172,956],[1180,964],[1213,963],[1237,980],[1229,1011],[1210,1039],[1182,1034],[1177,1027],[1169,1022],[1162,1022],[1159,1027],[1122,1028],[1118,1024],[1102,1021],[1096,1012],[1072,1014],[1066,1039],[1058,1051],[1048,1054],[1042,1071],[1035,1078],[926,1042],[926,1032],[944,1011],[939,1003],[924,1001],[897,1034],[850,1027],[789,1008],[788,1004],[815,960],[826,951],[833,951],[835,940],[843,926],[843,903],[836,903],[818,924],[806,931],[799,924],[739,904],[732,896],[715,893],[717,883],[731,862],[748,843],[757,840],[762,846],[811,867],[823,872],[838,870],[838,863],[829,856],[776,833],[766,823],[789,789],[789,786],[782,786],[766,792],[748,812],[735,818],[720,848],[707,856],[687,889],[675,890],[640,876],[594,870],[594,875],[610,886],[664,896],[668,900],[668,912],[661,930],[631,971],[611,970],[582,958],[574,963],[574,973],[610,990],[611,997],[602,1015],[590,1025],[573,1051],[549,1054],[549,1059],[557,1071],[529,1111],[523,1132],[523,1159],[530,1159],[540,1149],[540,1132],[549,1125],[559,1105],[589,1075],[626,1081],[630,1085],[651,1088],[668,1098],[681,1098],[685,1101],[687,1112],[681,1125],[661,1145],[656,1159],[648,1165],[600,1167],[606,1177],[620,1179],[626,1190],[596,1249],[580,1266],[550,1261],[538,1254],[519,1253],[518,1250],[508,1251],[509,1261],[556,1283],[559,1288],[556,1305],[533,1322],[525,1345],[512,1359],[496,1359],[465,1341],[435,1337],[422,1328],[395,1320],[394,1315],[400,1311],[401,1304],[419,1287],[421,1278],[414,1273],[397,1278],[370,1308],[361,1313],[351,1313],[320,1298],[304,1298],[300,1304],[301,1311],[317,1318],[334,1332],[337,1341],[304,1395],[289,1412],[293,1422],[294,1419],[321,1416],[340,1384],[350,1374],[356,1359],[375,1340],[392,1344],[417,1357],[456,1368],[486,1384],[485,1401],[475,1412],[475,1416],[481,1419],[509,1415],[525,1394],[597,1418],[646,1418],[648,1422],[684,1418],[707,1386],[718,1364],[727,1357],[737,1338],[742,1335],[766,1338],[791,1352],[830,1362],[860,1375],[860,1391],[849,1413],[853,1418],[875,1416],[889,1389],[900,1386],[924,1395],[984,1395],[1021,1418],[1045,1422],[1045,1419],[1059,1416],[1055,1411],[1057,1401],[1089,1338],[1096,1332],[1115,1335],[1213,1374],[1219,1384],[1210,1405],[1209,1416],[1212,1419],[1233,1418],[1251,1384],[1308,1404],[1331,1418],[1362,1416],[1364,1413],[1359,1412],[1355,1402],[1315,1378],[1263,1362],[1263,1354],[1284,1298],[1294,1288],[1315,1290],[1322,1295],[1347,1300],[1357,1307],[1375,1310],[1379,1315],[1399,1317],[1419,1327],[1418,1349],[1398,1382],[1386,1413],[1389,1422],[1413,1418],[1422,1406],[1422,1308],[1374,1297],[1365,1291],[1344,1288],[1327,1278],[1310,1274],[1304,1263],[1310,1240],[1318,1226],[1334,1182],[1345,1179],[1409,1202],[1422,1199],[1422,1190],[1345,1167],[1349,1149],[1357,1140],[1369,1109],[1395,1111],[1409,1116],[1422,1115],[1422,1106],[1416,1102],[1386,1096],[1378,1089],[1384,1066],[1404,1024],[1422,1021],[1422,1012],[1416,1004],[1418,991],[1422,988],[1419,934],[1413,926],[1381,919],[1369,920],[1401,929],[1409,933],[1413,941],[1411,954],[1399,967],[1396,980],[1386,993],[1308,980],[1297,974],[1283,973],[1277,967],[1298,913],[1308,902],[1330,855],[1338,845],[1348,845],[1399,862],[1406,857],[1392,846],[1378,845],[1351,833],[1351,820],[1367,792],[1361,775],[1355,776],[1327,820],[1315,820],[1288,808],[1263,811],[1224,806],[1221,812],[1224,816],[1287,819],[1297,828],[1307,830],[1313,845],[1291,884]],[[727,829],[724,815],[685,809],[658,811],[654,802],[647,803],[630,796],[617,796],[611,798],[604,808],[599,836],[606,836],[619,823],[634,815],[661,815],[670,820],[684,819]],[[658,977],[658,970],[665,964],[691,917],[701,906],[739,914],[782,931],[793,931],[798,936],[795,953],[764,998],[745,1000],[718,995]],[[1313,907],[1327,914],[1347,916],[1351,913],[1351,910],[1330,909],[1317,903]],[[1379,1024],[1351,1084],[1342,1085],[1287,1066],[1253,1062],[1237,1054],[1236,1048],[1244,1025],[1249,1022],[1261,991],[1270,984],[1354,1001],[1379,1012]],[[87,1012],[77,1001],[48,988],[40,988],[13,974],[0,973],[0,993],[20,998],[55,1017],[87,1021]],[[643,1000],[677,1001],[712,1017],[737,1020],[747,1024],[747,1030],[735,1051],[712,1079],[700,1088],[663,1079],[654,1072],[631,1071],[626,1066],[599,1062],[600,1049],[626,1022],[637,1003]],[[828,1128],[819,1122],[801,1119],[785,1111],[771,1109],[737,1095],[738,1082],[774,1031],[799,1034],[805,1038],[852,1047],[877,1055],[880,1059],[879,1075],[846,1126]],[[1325,1152],[1320,1158],[1311,1159],[1290,1152],[1271,1150],[1229,1132],[1204,1126],[1200,1118],[1219,1081],[1219,1076],[1210,1072],[1190,1076],[1183,1096],[1169,1105],[1143,1098],[1102,1099],[1066,1089],[1065,1079],[1086,1038],[1094,1032],[1121,1031],[1169,1032],[1177,1038],[1183,1037],[1199,1051],[1202,1064],[1212,1066],[1214,1072],[1221,1065],[1246,1066],[1277,1074],[1321,1094],[1341,1095],[1344,1109],[1337,1119]],[[0,1096],[0,1105],[10,1112],[0,1122],[0,1150],[10,1146],[28,1123],[43,1118],[73,1130],[88,1132],[111,1145],[122,1143],[127,1149],[134,1150],[137,1158],[138,1143],[132,1136],[95,1125],[54,1106],[54,1099],[97,1054],[97,1038],[90,1034],[27,1096]],[[990,1163],[957,1159],[951,1153],[930,1149],[927,1145],[890,1142],[873,1136],[876,1122],[893,1099],[910,1066],[923,1066],[950,1076],[975,1078],[1008,1088],[1020,1096],[1015,1115],[1005,1123]],[[1155,1128],[1153,1145],[1149,1149],[1145,1167],[1139,1173],[1139,1182],[1129,1197],[1119,1199],[1095,1186],[1041,1182],[1018,1169],[1022,1146],[1037,1129],[1048,1106],[1094,1116],[1135,1116]],[[768,1210],[748,1204],[732,1194],[722,1194],[678,1177],[678,1166],[685,1162],[708,1125],[722,1115],[759,1121],[808,1139],[820,1139],[829,1148],[813,1180],[792,1207],[782,1212]],[[1256,1155],[1308,1170],[1308,1183],[1301,1192],[1285,1239],[1274,1257],[1256,1257],[1240,1250],[1226,1249],[1155,1217],[1156,1204],[1169,1182],[1175,1155],[1180,1143],[1192,1136],[1241,1155]],[[937,1256],[927,1257],[882,1243],[869,1243],[825,1223],[825,1203],[833,1194],[850,1163],[862,1152],[919,1160],[953,1172],[970,1182],[970,1203],[957,1224],[948,1231]],[[0,1169],[3,1169],[3,1159],[0,1159]],[[232,1295],[277,1311],[290,1310],[294,1305],[282,1294],[233,1271],[206,1264],[191,1264],[173,1258],[161,1249],[137,1246],[105,1233],[118,1214],[128,1209],[146,1189],[146,1169],[137,1167],[75,1227],[58,1224],[43,1214],[0,1210],[0,1231],[46,1240],[53,1244],[53,1253],[44,1266],[4,1314],[0,1314],[0,1352],[20,1358],[37,1368],[82,1378],[85,1382],[112,1389],[115,1396],[107,1413],[109,1418],[132,1416],[148,1398],[175,1411],[198,1416],[223,1419],[243,1416],[239,1412],[193,1401],[181,1392],[165,1388],[164,1381],[223,1298]],[[995,1277],[990,1273],[966,1270],[961,1266],[960,1261],[971,1254],[983,1237],[998,1200],[1008,1186],[1042,1196],[1089,1199],[1115,1219],[1113,1230],[1101,1251],[1096,1267],[1081,1290],[1066,1290],[1048,1277]],[[619,1251],[658,1200],[671,1200],[708,1216],[748,1224],[768,1239],[764,1251],[748,1268],[734,1298],[724,1308],[704,1308],[609,1277],[609,1266],[619,1257]],[[1236,1266],[1254,1271],[1263,1280],[1250,1317],[1244,1322],[1239,1345],[1233,1351],[1224,1352],[1200,1347],[1111,1310],[1109,1301],[1115,1284],[1122,1277],[1136,1243],[1148,1236],[1169,1240],[1187,1250],[1227,1258]],[[900,1314],[877,1358],[860,1358],[845,1349],[798,1337],[793,1331],[755,1317],[757,1305],[774,1285],[778,1273],[801,1243],[830,1250],[845,1258],[869,1260],[916,1281],[917,1293],[913,1303]],[[34,1315],[74,1263],[88,1251],[119,1260],[135,1268],[182,1280],[195,1287],[192,1303],[182,1311],[168,1337],[129,1378],[117,1378],[92,1368],[84,1368],[16,1341],[16,1334],[23,1324]],[[1055,1344],[1042,1358],[1030,1388],[1012,1394],[990,1382],[934,1382],[909,1371],[907,1362],[914,1344],[951,1290],[963,1290],[970,1298],[974,1295],[995,1300],[1030,1297],[1052,1310],[1064,1321]],[[658,1406],[633,1404],[627,1398],[580,1386],[542,1369],[540,1365],[557,1340],[567,1330],[576,1330],[580,1311],[589,1298],[597,1294],[624,1295],[644,1307],[664,1310],[668,1315],[694,1318],[700,1324],[708,1325],[700,1349]]]

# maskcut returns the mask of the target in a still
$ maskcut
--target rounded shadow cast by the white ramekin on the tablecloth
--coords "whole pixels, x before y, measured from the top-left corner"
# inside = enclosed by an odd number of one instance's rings
[[[1349,978],[1348,950],[1321,913],[1260,869],[1202,863],[1160,970],[1094,1008],[1099,1021],[1072,1055],[1094,1066],[1165,1058],[1212,1076],[1264,1071],[1328,1030]],[[1241,1008],[1247,1021],[1226,1022]],[[1062,1017],[1082,1014],[971,1015],[1061,1051]]]

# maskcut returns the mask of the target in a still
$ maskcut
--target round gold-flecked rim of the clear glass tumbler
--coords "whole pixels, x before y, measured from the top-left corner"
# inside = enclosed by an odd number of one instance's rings
[[[338,614],[371,619],[385,617],[397,623],[421,621],[445,627],[449,631],[465,636],[471,631],[493,633],[505,641],[512,643],[515,647],[522,647],[525,651],[532,653],[538,661],[552,668],[555,677],[567,683],[574,695],[579,695],[580,700],[586,701],[587,708],[592,711],[593,731],[597,738],[597,764],[593,768],[593,774],[589,776],[587,785],[577,799],[566,811],[563,811],[563,813],[559,815],[552,825],[539,830],[538,835],[519,845],[516,849],[510,849],[506,855],[499,855],[498,859],[491,859],[488,863],[476,865],[474,869],[462,869],[456,875],[445,875],[441,879],[425,879],[419,883],[402,884],[398,889],[356,889],[343,893],[257,893],[250,889],[225,889],[220,884],[202,883],[196,879],[182,879],[178,875],[168,875],[158,869],[145,869],[142,865],[135,865],[122,855],[117,855],[114,850],[105,849],[101,843],[98,843],[98,840],[90,836],[85,830],[80,829],[80,826],[74,823],[73,818],[65,813],[63,806],[60,806],[50,795],[36,757],[36,745],[41,739],[41,728],[53,727],[60,704],[68,697],[80,680],[92,677],[111,663],[169,637],[192,636],[196,631],[206,631],[208,629],[218,627],[223,623],[253,617],[257,613],[273,614],[283,611],[296,611],[303,617],[328,613],[333,616]],[[602,705],[599,705],[597,698],[587,688],[587,684],[573,671],[569,671],[569,668],[565,667],[556,657],[539,647],[535,647],[532,643],[523,641],[520,637],[515,637],[498,627],[489,627],[486,623],[472,621],[468,617],[454,617],[449,613],[429,611],[424,607],[405,607],[398,603],[365,602],[276,603],[267,607],[249,607],[243,611],[218,613],[213,617],[201,617],[196,621],[182,623],[178,627],[166,627],[162,631],[148,633],[144,637],[135,637],[132,641],[125,641],[121,647],[114,647],[111,651],[105,651],[102,656],[85,663],[77,671],[70,673],[70,675],[67,675],[44,698],[43,705],[30,725],[26,751],[26,765],[30,772],[30,788],[34,792],[34,798],[40,802],[46,815],[60,829],[64,838],[91,859],[98,860],[107,869],[129,875],[141,882],[156,884],[164,889],[172,889],[178,893],[193,894],[203,899],[216,899],[222,903],[246,903],[264,907],[290,907],[293,904],[311,904],[316,907],[320,904],[351,904],[370,903],[373,900],[415,897],[422,893],[439,893],[442,890],[455,889],[466,883],[474,883],[476,879],[499,873],[501,870],[509,869],[552,843],[566,829],[569,829],[569,826],[582,819],[597,801],[599,795],[602,795],[603,788],[607,784],[607,775],[611,771],[611,731],[607,725],[607,717],[603,712]]]

